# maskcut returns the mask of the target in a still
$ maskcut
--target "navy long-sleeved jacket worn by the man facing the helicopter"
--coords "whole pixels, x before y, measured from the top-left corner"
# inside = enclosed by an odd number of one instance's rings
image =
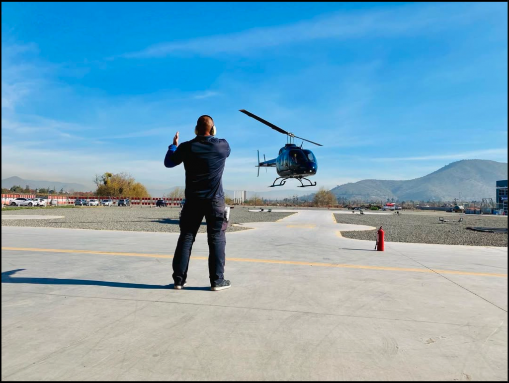
[[[164,166],[184,163],[186,170],[186,199],[214,199],[224,197],[222,173],[231,150],[227,140],[213,136],[196,136],[182,142],[178,148],[170,145]]]

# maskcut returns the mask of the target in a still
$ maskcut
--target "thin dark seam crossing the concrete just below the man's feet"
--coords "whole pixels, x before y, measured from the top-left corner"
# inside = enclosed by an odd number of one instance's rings
[[[469,327],[469,328],[471,327],[471,328],[483,328],[483,329],[495,329],[495,328],[499,329],[501,327],[501,326],[494,327],[494,326],[469,325],[469,324],[466,324],[466,323],[434,322],[434,321],[429,321],[429,320],[397,319],[397,318],[384,318],[384,317],[376,317],[376,316],[362,316],[362,315],[348,315],[348,314],[330,314],[330,313],[319,313],[319,312],[308,312],[308,311],[269,309],[269,308],[262,308],[262,307],[242,307],[242,306],[226,306],[226,305],[213,305],[213,304],[189,303],[189,302],[169,302],[169,301],[163,301],[162,299],[164,299],[164,298],[160,298],[158,300],[153,301],[153,300],[127,299],[127,298],[83,297],[83,296],[74,296],[74,295],[68,295],[68,294],[52,294],[52,293],[45,293],[45,292],[16,291],[16,290],[2,290],[2,292],[11,292],[11,293],[15,292],[15,293],[21,293],[21,294],[34,294],[34,295],[43,295],[43,296],[51,296],[51,297],[68,297],[68,298],[77,298],[77,299],[97,299],[97,300],[127,301],[127,302],[147,302],[147,303],[161,303],[161,304],[171,304],[171,305],[217,307],[217,308],[238,309],[238,310],[284,312],[284,313],[292,313],[292,314],[317,315],[317,316],[320,316],[320,315],[321,316],[334,316],[334,317],[342,317],[342,318],[375,319],[375,320],[387,320],[387,321],[410,322],[410,323],[428,323],[430,325],[445,325],[445,326]],[[169,294],[167,294],[166,297],[168,295]],[[147,306],[144,306],[144,307],[147,307]],[[127,317],[129,315],[126,315],[125,317]]]

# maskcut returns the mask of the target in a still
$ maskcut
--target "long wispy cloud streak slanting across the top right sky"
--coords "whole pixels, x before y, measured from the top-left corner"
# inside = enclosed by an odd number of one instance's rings
[[[325,39],[346,40],[372,36],[387,38],[415,33],[429,34],[501,11],[503,11],[501,6],[485,3],[410,5],[390,11],[344,12],[291,25],[254,28],[230,35],[159,43],[122,56],[149,58],[182,53],[203,56],[251,54],[263,48]]]

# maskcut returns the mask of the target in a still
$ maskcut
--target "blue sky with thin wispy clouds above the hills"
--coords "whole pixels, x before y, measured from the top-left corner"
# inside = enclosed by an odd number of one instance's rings
[[[3,179],[183,185],[167,146],[210,114],[224,187],[266,191],[286,138],[238,109],[323,143],[328,188],[507,162],[507,3],[2,4]]]

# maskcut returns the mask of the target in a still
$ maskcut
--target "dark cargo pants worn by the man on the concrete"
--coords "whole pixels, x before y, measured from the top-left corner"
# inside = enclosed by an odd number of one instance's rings
[[[225,232],[228,228],[228,222],[224,217],[224,198],[186,199],[180,217],[180,237],[173,258],[173,280],[176,285],[183,285],[187,280],[192,245],[203,217],[207,221],[211,286],[221,283],[224,279]]]

